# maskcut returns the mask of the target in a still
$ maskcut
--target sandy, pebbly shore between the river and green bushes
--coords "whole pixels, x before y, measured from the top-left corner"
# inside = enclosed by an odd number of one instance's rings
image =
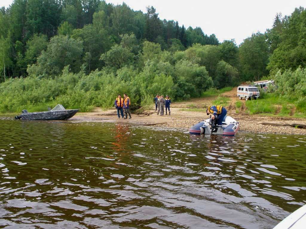
[[[227,115],[233,117],[240,123],[239,131],[242,132],[255,132],[255,133],[278,133],[278,134],[303,134],[306,135],[306,128],[294,128],[290,126],[269,126],[258,124],[261,121],[306,121],[302,118],[281,118],[281,117],[269,117],[263,115],[248,115],[245,112],[244,100],[241,108],[236,108],[236,101],[238,100],[235,95],[235,90],[223,93],[222,96],[228,96],[232,100],[229,105],[226,106]],[[211,105],[211,101],[215,98],[198,98],[191,99],[186,102],[178,102],[171,104],[171,115],[160,116],[155,111],[155,105],[152,104],[152,109],[144,111],[142,115],[132,114],[131,119],[118,118],[116,109],[102,110],[96,108],[94,112],[89,113],[77,113],[71,121],[84,121],[84,122],[120,122],[128,125],[132,124],[158,124],[157,126],[170,127],[170,128],[182,128],[186,131],[192,125],[207,119],[208,116],[204,110],[208,105]],[[153,107],[154,106],[154,107]],[[190,111],[192,108],[201,109],[203,111]],[[237,113],[237,110],[239,111]]]

